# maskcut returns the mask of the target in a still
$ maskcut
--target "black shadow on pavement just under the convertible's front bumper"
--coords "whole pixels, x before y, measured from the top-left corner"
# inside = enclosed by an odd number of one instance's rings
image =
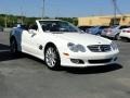
[[[122,65],[120,64],[109,64],[104,66],[89,66],[89,68],[64,68],[66,72],[73,73],[73,74],[100,74],[100,73],[107,73],[116,70],[122,69]]]

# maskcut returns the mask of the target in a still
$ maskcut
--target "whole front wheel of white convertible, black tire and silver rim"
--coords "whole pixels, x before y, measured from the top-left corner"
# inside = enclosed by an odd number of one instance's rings
[[[44,61],[49,69],[60,70],[61,69],[61,58],[58,50],[54,46],[48,46],[44,51]]]

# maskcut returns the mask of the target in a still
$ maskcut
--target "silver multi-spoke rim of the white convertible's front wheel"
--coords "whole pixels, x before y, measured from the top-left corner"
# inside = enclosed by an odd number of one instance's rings
[[[46,62],[48,66],[53,68],[56,64],[56,51],[54,48],[48,48],[46,51]]]

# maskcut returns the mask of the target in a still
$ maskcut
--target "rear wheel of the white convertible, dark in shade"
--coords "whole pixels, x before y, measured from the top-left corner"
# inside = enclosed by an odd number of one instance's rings
[[[13,54],[18,54],[18,50],[17,50],[17,42],[15,40],[15,38],[13,38],[10,42],[10,50],[11,50],[11,53]]]

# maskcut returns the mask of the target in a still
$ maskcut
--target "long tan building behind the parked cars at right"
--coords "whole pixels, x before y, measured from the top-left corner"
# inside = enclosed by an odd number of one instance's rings
[[[114,15],[78,17],[78,26],[113,25]],[[117,15],[117,25],[130,25],[130,14]]]

